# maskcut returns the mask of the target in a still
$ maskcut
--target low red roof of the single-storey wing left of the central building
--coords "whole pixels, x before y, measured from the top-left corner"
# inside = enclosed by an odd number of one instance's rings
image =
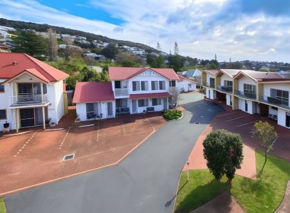
[[[77,82],[72,102],[77,104],[112,100],[115,98],[110,82]]]

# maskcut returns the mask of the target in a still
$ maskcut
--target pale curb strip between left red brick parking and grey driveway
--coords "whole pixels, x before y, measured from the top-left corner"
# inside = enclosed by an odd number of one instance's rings
[[[145,142],[148,138],[150,138],[153,135],[153,133],[155,133],[155,131],[156,130],[153,130],[148,136],[146,136],[146,138],[144,138],[141,142],[139,142],[135,147],[133,147],[133,149],[131,149],[131,151],[128,151],[128,153],[126,155],[124,155],[122,158],[120,158],[119,160],[117,160],[115,163],[111,163],[109,165],[104,165],[102,167],[97,167],[97,168],[94,168],[94,169],[88,169],[88,170],[86,170],[84,172],[78,172],[78,173],[71,174],[71,175],[68,175],[68,176],[63,176],[61,178],[55,178],[55,179],[52,179],[52,180],[47,180],[47,181],[44,181],[44,182],[41,182],[41,183],[37,183],[37,184],[34,184],[34,185],[30,185],[30,186],[27,186],[27,187],[22,187],[20,189],[14,189],[14,190],[11,190],[11,191],[8,191],[8,192],[2,192],[0,194],[0,197],[7,196],[9,194],[13,194],[13,193],[16,193],[16,192],[22,192],[22,191],[24,191],[26,189],[35,188],[35,187],[38,187],[38,186],[41,186],[41,185],[45,185],[47,183],[53,183],[53,182],[56,182],[56,181],[59,181],[59,180],[64,180],[66,178],[71,178],[71,177],[74,177],[74,176],[78,176],[80,174],[86,174],[88,172],[93,172],[93,171],[96,171],[96,170],[99,170],[99,169],[104,169],[106,167],[111,167],[111,166],[118,165],[122,160],[124,160],[124,158],[126,158],[135,149],[137,149],[140,145],[142,145],[143,142]]]

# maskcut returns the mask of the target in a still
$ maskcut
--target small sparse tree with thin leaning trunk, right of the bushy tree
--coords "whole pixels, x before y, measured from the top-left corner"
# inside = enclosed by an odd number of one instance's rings
[[[260,145],[264,149],[265,160],[264,165],[262,166],[262,169],[260,171],[260,174],[262,174],[264,166],[267,163],[267,154],[271,149],[273,149],[273,145],[278,138],[278,133],[275,131],[274,127],[268,122],[259,121],[255,122],[251,136],[260,140]]]

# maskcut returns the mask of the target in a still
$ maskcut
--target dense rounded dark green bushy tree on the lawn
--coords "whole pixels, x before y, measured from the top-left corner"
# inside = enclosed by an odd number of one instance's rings
[[[241,136],[224,129],[216,130],[206,136],[203,145],[206,165],[213,176],[220,180],[226,174],[231,181],[243,159]]]

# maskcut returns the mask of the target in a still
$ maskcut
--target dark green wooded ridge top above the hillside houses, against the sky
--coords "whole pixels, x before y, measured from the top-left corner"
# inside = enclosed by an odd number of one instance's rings
[[[152,48],[151,46],[147,46],[145,44],[135,43],[132,41],[110,39],[102,35],[95,35],[93,33],[86,33],[81,30],[72,30],[70,28],[63,28],[59,26],[51,26],[49,24],[35,24],[32,22],[13,21],[13,20],[0,18],[0,26],[8,26],[8,27],[15,28],[17,30],[30,29],[30,30],[35,30],[37,32],[47,32],[48,28],[54,28],[58,34],[68,34],[68,35],[77,35],[81,37],[86,37],[88,41],[100,40],[106,43],[120,44],[122,46],[137,47],[137,48],[146,50],[148,52],[158,52],[155,48]]]

